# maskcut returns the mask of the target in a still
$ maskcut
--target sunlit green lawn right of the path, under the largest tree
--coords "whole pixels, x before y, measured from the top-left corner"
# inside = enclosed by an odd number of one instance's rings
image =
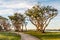
[[[37,31],[27,31],[24,32],[30,35],[33,35],[40,40],[60,40],[60,32],[46,32],[46,33],[40,33]]]

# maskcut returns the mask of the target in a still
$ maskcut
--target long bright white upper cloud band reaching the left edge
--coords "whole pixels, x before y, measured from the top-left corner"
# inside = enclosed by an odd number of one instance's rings
[[[0,7],[6,7],[6,8],[31,8],[32,5],[28,3],[15,3],[15,4],[5,4],[0,5]]]

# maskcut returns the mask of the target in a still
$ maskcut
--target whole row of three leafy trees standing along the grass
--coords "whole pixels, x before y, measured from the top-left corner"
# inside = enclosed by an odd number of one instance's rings
[[[51,7],[51,6],[40,6],[40,5],[35,5],[32,8],[29,8],[28,10],[25,11],[24,15],[21,13],[14,13],[12,16],[8,16],[10,21],[12,22],[12,25],[15,27],[15,31],[23,31],[23,27],[26,28],[26,17],[29,18],[29,21],[36,27],[37,31],[44,32],[45,28],[48,26],[50,21],[57,16],[58,10]],[[1,19],[1,18],[0,18]],[[8,20],[9,20],[8,19]],[[6,18],[2,18],[2,20],[6,20]],[[3,21],[3,22],[4,22]],[[3,25],[4,29],[8,29],[8,24],[7,23],[1,23]],[[6,24],[6,26],[5,26]],[[0,25],[0,26],[1,26]]]

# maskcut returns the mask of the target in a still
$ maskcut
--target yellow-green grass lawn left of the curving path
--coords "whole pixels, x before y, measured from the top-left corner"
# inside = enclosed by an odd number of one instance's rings
[[[0,40],[20,40],[21,37],[15,33],[0,32]]]

